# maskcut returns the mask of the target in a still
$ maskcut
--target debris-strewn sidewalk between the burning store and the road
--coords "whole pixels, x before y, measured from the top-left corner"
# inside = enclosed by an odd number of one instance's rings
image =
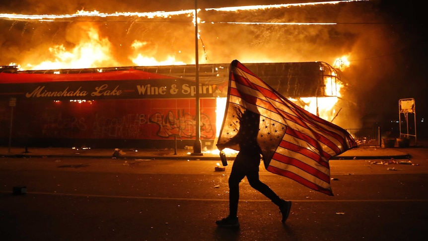
[[[27,151],[27,152],[26,152]],[[115,154],[115,155],[114,155]],[[119,154],[119,155],[118,155]],[[30,157],[86,157],[86,158],[120,158],[120,159],[172,159],[172,160],[219,160],[218,150],[195,154],[193,150],[185,149],[72,149],[72,148],[28,148],[0,147],[0,157],[30,158]],[[234,160],[236,153],[226,154],[228,160]],[[357,159],[408,159],[409,154],[398,148],[379,148],[361,146],[348,150],[331,160]]]

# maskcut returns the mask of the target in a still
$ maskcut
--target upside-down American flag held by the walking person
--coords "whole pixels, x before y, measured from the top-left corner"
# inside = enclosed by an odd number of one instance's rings
[[[332,196],[329,160],[357,147],[354,138],[290,102],[239,61],[232,61],[229,70],[227,104],[217,146],[239,151],[231,140],[239,131],[240,113],[257,113],[257,143],[265,168]]]

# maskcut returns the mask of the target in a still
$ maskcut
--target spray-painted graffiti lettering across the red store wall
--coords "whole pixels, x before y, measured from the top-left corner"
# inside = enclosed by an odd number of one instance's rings
[[[196,136],[195,116],[184,110],[175,115],[169,111],[166,115],[156,112],[152,115],[128,114],[120,117],[108,117],[96,113],[92,117],[48,116],[40,121],[43,137],[59,138],[150,138],[148,125],[157,125],[156,135],[160,138],[179,137],[193,138]],[[91,121],[92,120],[92,121]],[[211,119],[201,114],[201,138],[214,138]],[[152,137],[151,137],[152,138]]]

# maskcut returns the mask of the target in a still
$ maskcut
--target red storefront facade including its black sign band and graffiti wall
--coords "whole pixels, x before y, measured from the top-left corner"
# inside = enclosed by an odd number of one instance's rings
[[[193,146],[195,81],[134,69],[106,73],[0,73],[0,139],[12,146]],[[224,84],[227,84],[224,83]],[[215,139],[216,85],[200,85],[200,138]],[[15,106],[10,100],[15,98]],[[12,121],[11,121],[12,120]]]

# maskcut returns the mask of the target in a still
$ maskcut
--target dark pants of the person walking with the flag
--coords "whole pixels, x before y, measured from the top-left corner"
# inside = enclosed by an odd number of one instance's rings
[[[239,201],[239,183],[247,176],[250,186],[276,205],[280,205],[281,199],[272,189],[259,179],[259,154],[238,153],[233,162],[232,171],[229,176],[229,216],[237,217]]]

